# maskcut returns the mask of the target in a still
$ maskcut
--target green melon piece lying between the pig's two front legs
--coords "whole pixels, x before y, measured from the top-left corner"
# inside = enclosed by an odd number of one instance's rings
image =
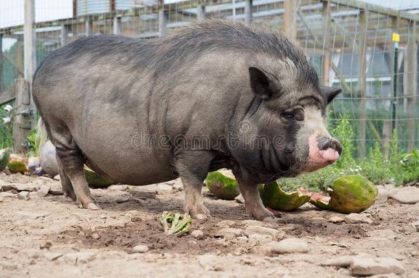
[[[208,173],[205,184],[214,196],[223,200],[234,200],[240,194],[237,181],[218,171]]]

